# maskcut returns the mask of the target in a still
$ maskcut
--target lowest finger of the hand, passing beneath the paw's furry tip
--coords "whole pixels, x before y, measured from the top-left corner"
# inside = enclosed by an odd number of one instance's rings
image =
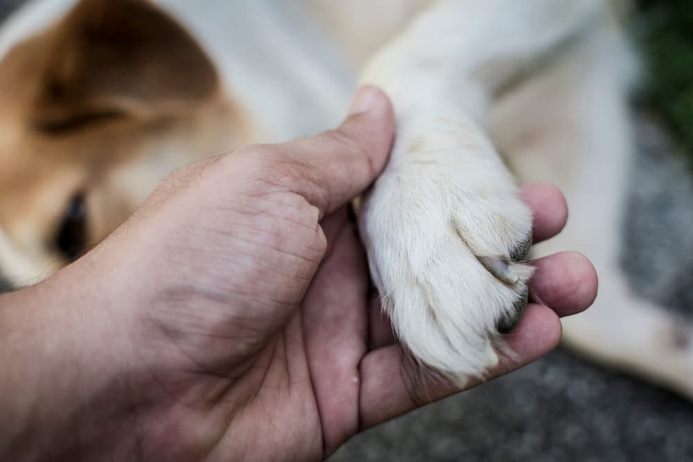
[[[516,329],[507,336],[508,344],[516,354],[513,358],[501,357],[489,378],[529,364],[555,348],[560,339],[561,323],[556,313],[541,305],[530,304]],[[480,383],[479,380],[470,380],[465,387],[456,387],[416,366],[398,345],[368,353],[361,362],[361,377],[361,430]]]

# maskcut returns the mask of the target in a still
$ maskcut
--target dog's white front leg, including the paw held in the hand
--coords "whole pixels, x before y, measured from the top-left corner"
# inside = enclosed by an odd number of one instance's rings
[[[532,215],[484,129],[491,95],[577,34],[599,2],[434,2],[376,53],[397,136],[365,197],[371,274],[412,355],[464,382],[497,361],[527,303]]]

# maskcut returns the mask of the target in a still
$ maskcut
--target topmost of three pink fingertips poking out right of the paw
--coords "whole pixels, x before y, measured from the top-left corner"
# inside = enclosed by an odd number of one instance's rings
[[[560,233],[568,220],[568,205],[561,191],[550,184],[523,186],[523,200],[534,213],[534,242],[541,242]]]

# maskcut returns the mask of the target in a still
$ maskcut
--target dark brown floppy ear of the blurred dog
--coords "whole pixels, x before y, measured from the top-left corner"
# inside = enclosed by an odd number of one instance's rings
[[[42,130],[186,110],[218,87],[195,39],[146,0],[82,0],[45,38],[32,111]]]

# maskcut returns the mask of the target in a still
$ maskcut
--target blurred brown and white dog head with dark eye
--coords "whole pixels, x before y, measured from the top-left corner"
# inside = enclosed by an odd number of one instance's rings
[[[30,283],[74,260],[170,172],[245,142],[243,125],[164,12],[80,1],[0,57],[0,277]]]

